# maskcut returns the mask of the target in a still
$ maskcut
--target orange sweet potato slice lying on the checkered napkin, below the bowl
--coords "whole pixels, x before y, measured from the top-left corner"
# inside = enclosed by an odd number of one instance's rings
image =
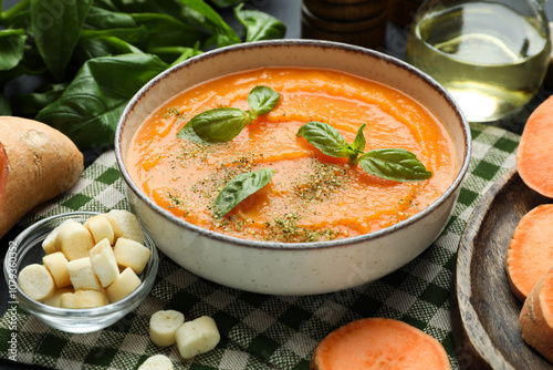
[[[311,370],[451,369],[439,341],[403,321],[368,318],[345,325],[313,352]]]

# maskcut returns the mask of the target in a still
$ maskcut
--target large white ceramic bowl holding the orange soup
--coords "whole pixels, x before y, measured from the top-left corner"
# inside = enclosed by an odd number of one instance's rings
[[[392,227],[332,241],[269,243],[229,237],[184,222],[150,201],[126,166],[131,140],[143,121],[182,90],[223,74],[261,66],[331,68],[380,81],[427,106],[447,127],[457,153],[457,176],[434,204]],[[242,43],[207,52],[156,76],[128,103],[115,152],[128,199],[157,247],[177,264],[225,286],[263,294],[311,295],[378,279],[413,260],[444,229],[459,195],[471,151],[469,125],[432,79],[386,54],[325,41]]]

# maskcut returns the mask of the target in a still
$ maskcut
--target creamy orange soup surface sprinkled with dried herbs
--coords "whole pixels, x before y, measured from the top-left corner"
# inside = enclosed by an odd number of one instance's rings
[[[233,140],[198,144],[177,137],[207,110],[248,110],[257,85],[274,89],[280,101]],[[432,176],[394,182],[324,155],[296,137],[310,121],[328,123],[347,143],[365,123],[365,152],[405,148]],[[456,162],[447,130],[411,97],[343,72],[301,68],[251,70],[184,91],[143,123],[127,157],[138,187],[177,217],[239,238],[286,243],[345,238],[406,219],[451,185]],[[268,185],[213,217],[215,199],[231,178],[264,167],[273,171]]]

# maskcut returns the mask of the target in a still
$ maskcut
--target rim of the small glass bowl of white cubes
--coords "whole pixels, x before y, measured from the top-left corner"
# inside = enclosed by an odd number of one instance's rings
[[[24,238],[29,237],[29,234],[32,232],[36,230],[44,224],[54,220],[56,218],[62,218],[62,217],[73,217],[73,216],[96,216],[96,215],[102,215],[103,213],[98,212],[90,212],[90,210],[76,210],[76,212],[69,212],[69,213],[61,213],[56,214],[53,216],[49,216],[46,218],[40,219],[36,223],[33,223],[23,232],[21,232],[11,243],[10,247],[8,248],[7,256],[4,258],[3,263],[3,275],[6,279],[6,284],[9,286],[10,282],[13,280],[10,278],[11,274],[11,266],[10,265],[10,258],[8,258],[8,253],[12,246],[14,248],[18,248],[21,244],[21,240]],[[143,232],[144,233],[144,232]],[[61,307],[55,307],[55,306],[49,306],[44,302],[38,301],[31,297],[29,297],[21,288],[19,287],[19,284],[17,282],[18,276],[15,276],[14,284],[15,284],[15,289],[17,289],[17,301],[20,304],[23,308],[32,310],[33,314],[39,314],[39,315],[45,315],[49,316],[50,318],[54,317],[70,317],[70,316],[77,316],[79,317],[96,317],[96,316],[104,316],[104,315],[109,315],[109,314],[116,314],[124,311],[128,307],[131,307],[134,302],[135,299],[138,299],[139,301],[143,301],[149,296],[149,291],[154,287],[156,276],[157,276],[157,270],[159,267],[159,255],[157,253],[157,247],[152,239],[149,235],[144,233],[144,238],[146,240],[146,245],[148,246],[148,249],[152,250],[150,257],[148,259],[148,265],[152,264],[152,266],[147,269],[147,275],[144,276],[142,279],[140,285],[138,288],[136,288],[133,292],[131,292],[128,296],[125,298],[116,301],[116,302],[109,302],[105,306],[101,307],[93,307],[93,308],[61,308]],[[30,246],[29,248],[34,248],[38,247],[39,245],[33,245]],[[20,253],[18,250],[15,253],[15,263],[17,263],[17,268],[15,270],[20,270]],[[27,253],[25,253],[27,254]],[[146,266],[148,266],[146,265]],[[75,318],[75,319],[77,319]]]

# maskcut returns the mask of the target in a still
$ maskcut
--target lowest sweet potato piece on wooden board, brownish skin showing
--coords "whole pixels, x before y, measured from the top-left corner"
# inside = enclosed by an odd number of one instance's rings
[[[553,268],[534,286],[522,306],[522,338],[553,362]]]

